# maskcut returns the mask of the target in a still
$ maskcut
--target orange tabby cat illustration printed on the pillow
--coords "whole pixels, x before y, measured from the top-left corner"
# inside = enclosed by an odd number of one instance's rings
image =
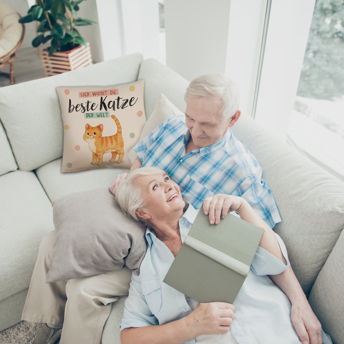
[[[104,153],[112,153],[112,157],[109,160],[110,162],[114,162],[118,154],[119,158],[116,161],[118,164],[124,157],[122,127],[119,123],[119,120],[114,115],[112,115],[111,118],[116,122],[117,125],[117,133],[112,136],[101,137],[101,132],[104,129],[103,124],[99,124],[96,127],[91,127],[88,123],[86,123],[84,140],[88,143],[88,147],[93,155],[93,160],[91,162],[92,165],[94,165],[98,159],[97,166],[100,166],[103,163]]]

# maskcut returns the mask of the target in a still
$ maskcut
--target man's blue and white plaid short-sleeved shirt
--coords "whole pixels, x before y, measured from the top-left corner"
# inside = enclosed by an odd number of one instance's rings
[[[261,179],[261,167],[230,129],[218,142],[185,154],[191,138],[184,116],[174,116],[133,148],[142,167],[166,171],[180,185],[183,200],[201,208],[204,198],[223,193],[242,196],[273,228],[281,221],[271,190]]]

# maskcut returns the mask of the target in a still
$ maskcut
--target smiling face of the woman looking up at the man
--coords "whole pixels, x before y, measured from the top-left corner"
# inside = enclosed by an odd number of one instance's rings
[[[185,202],[180,188],[168,174],[141,175],[136,182],[141,186],[142,198],[146,202],[141,211],[148,214],[148,218],[154,220],[173,214],[179,216],[183,211]]]

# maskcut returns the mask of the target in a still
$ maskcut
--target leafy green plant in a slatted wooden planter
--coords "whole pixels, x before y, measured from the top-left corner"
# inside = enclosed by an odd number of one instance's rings
[[[50,47],[42,50],[41,60],[46,76],[60,74],[92,64],[89,43],[80,36],[76,26],[96,23],[78,18],[79,4],[84,0],[36,0],[20,23],[36,21],[38,35],[32,45],[50,41]]]

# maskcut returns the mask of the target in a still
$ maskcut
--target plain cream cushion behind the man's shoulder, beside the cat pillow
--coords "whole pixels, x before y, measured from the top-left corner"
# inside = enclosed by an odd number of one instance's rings
[[[182,111],[180,111],[175,105],[173,105],[162,93],[159,96],[157,105],[155,105],[155,109],[153,113],[147,120],[147,123],[144,125],[142,129],[142,133],[140,136],[141,141],[147,135],[149,135],[156,127],[160,125],[164,120],[172,117],[172,116],[179,116],[184,115]],[[137,157],[136,152],[132,149],[128,152],[128,157],[130,158],[131,162]]]

